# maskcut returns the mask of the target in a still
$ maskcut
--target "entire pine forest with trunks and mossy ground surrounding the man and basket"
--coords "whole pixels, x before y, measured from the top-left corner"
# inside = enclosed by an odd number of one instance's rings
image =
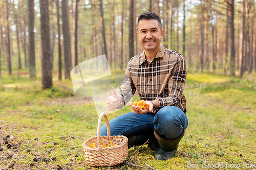
[[[146,11],[162,20],[161,44],[186,59],[189,126],[172,160],[144,145],[110,168],[256,168],[254,0],[2,0],[0,11],[0,169],[96,169],[81,144],[98,116],[92,99],[75,96],[71,70],[105,54],[114,77],[124,74],[143,51],[136,18]]]

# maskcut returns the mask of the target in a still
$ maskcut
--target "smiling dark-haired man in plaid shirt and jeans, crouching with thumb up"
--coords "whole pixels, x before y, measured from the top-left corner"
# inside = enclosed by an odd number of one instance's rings
[[[186,81],[184,57],[164,48],[161,19],[153,12],[145,12],[138,17],[137,35],[144,51],[133,57],[125,70],[120,89],[112,88],[106,106],[109,110],[122,108],[137,90],[140,100],[150,105],[141,109],[130,104],[133,112],[112,119],[112,135],[124,135],[129,146],[141,145],[150,139],[148,146],[156,151],[155,158],[172,158],[184,136],[188,121],[186,99],[183,89]],[[130,86],[127,85],[129,82]],[[127,95],[129,91],[132,95]],[[101,135],[106,135],[106,126],[101,127]]]

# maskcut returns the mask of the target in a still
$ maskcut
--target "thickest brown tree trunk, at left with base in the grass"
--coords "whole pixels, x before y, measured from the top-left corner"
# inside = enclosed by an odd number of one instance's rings
[[[42,89],[52,86],[52,55],[48,0],[40,0]]]

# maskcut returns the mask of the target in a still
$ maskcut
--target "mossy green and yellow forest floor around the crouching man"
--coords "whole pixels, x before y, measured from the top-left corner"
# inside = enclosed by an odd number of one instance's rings
[[[47,90],[40,78],[0,77],[0,169],[143,169],[87,164],[82,143],[96,135],[95,106],[74,96],[72,81],[53,76],[54,87]],[[188,127],[175,157],[155,160],[143,145],[129,162],[154,169],[256,169],[256,75],[189,72],[184,92]],[[129,149],[129,156],[138,148]]]

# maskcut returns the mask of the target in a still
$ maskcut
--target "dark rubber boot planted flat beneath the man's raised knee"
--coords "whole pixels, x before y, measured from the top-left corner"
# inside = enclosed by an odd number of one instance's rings
[[[179,142],[181,138],[184,136],[185,131],[183,130],[181,135],[176,139],[164,139],[161,135],[154,129],[154,134],[158,140],[160,147],[155,153],[155,159],[158,160],[167,160],[174,157],[176,153]]]

